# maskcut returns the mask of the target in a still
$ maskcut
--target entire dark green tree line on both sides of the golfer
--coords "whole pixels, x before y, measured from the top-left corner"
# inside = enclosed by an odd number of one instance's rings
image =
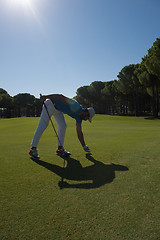
[[[160,38],[141,63],[122,68],[117,80],[94,81],[77,89],[74,97],[82,106],[93,106],[96,113],[153,115],[160,108]],[[11,97],[0,88],[0,118],[40,116],[42,103],[29,93]]]

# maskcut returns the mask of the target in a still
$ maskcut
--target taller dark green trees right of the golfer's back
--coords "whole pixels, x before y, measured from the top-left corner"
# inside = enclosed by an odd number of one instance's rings
[[[76,100],[93,106],[97,113],[118,115],[153,115],[160,107],[160,38],[139,64],[122,68],[117,80],[94,81],[77,89]]]

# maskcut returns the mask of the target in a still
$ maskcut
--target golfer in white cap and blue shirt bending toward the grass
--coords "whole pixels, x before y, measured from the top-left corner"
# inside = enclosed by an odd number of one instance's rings
[[[64,138],[66,132],[66,122],[64,118],[64,114],[69,115],[70,117],[76,120],[76,131],[77,137],[84,149],[85,152],[90,152],[89,147],[86,145],[82,132],[82,120],[92,121],[92,117],[95,115],[95,110],[93,107],[90,108],[82,108],[82,106],[74,99],[67,98],[62,94],[52,94],[52,95],[41,95],[40,100],[44,102],[42,113],[40,117],[40,121],[38,127],[34,133],[33,140],[31,143],[31,149],[29,151],[29,155],[32,159],[39,159],[39,155],[37,153],[37,145],[39,143],[40,137],[43,134],[44,130],[47,128],[49,124],[49,116],[53,116],[57,125],[57,150],[56,154],[59,156],[69,156],[70,153],[67,152],[64,145]],[[46,108],[48,113],[46,111]]]

